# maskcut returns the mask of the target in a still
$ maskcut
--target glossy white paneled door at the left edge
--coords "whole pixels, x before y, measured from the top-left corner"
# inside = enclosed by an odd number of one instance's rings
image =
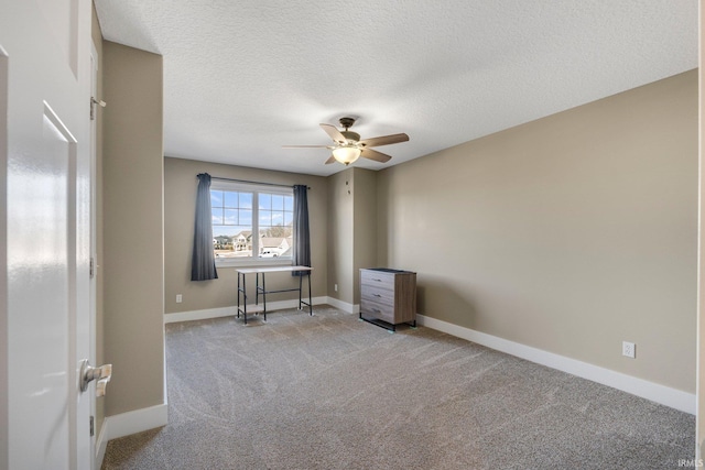
[[[0,0],[0,467],[9,469],[93,467],[95,389],[78,386],[90,341],[90,0]]]

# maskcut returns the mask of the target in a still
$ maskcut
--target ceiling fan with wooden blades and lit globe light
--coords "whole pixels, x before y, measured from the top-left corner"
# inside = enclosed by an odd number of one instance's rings
[[[360,140],[360,134],[349,130],[354,123],[354,118],[340,118],[340,125],[345,128],[344,131],[339,131],[332,124],[321,124],[321,128],[333,139],[333,145],[284,145],[284,149],[330,149],[333,155],[326,160],[326,165],[338,161],[347,166],[360,156],[387,163],[391,156],[370,147],[406,142],[409,140],[409,135],[404,133]]]

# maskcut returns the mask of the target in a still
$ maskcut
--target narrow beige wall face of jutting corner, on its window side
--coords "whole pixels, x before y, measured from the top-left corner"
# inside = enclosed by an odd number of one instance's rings
[[[328,176],[328,296],[354,304],[354,168]],[[335,284],[338,291],[335,291]]]

